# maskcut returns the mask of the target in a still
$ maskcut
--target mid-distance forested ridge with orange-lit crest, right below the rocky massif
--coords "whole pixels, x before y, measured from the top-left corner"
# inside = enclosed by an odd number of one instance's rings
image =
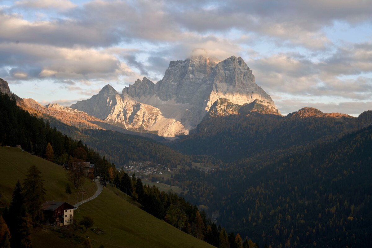
[[[185,154],[211,155],[225,162],[283,157],[309,146],[336,141],[372,123],[372,111],[358,118],[304,108],[286,117],[230,115],[203,120],[187,136],[170,143]]]

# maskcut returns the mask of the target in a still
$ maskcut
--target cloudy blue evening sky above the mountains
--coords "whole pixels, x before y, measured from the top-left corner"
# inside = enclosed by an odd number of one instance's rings
[[[70,106],[169,62],[241,57],[283,115],[372,110],[372,0],[0,0],[0,77]]]

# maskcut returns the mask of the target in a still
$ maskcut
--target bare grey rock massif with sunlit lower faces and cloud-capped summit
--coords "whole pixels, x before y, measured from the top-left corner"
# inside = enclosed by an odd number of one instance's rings
[[[220,98],[238,105],[260,100],[280,114],[269,94],[255,83],[244,60],[235,56],[223,61],[206,57],[171,61],[156,84],[144,77],[124,87],[121,95],[107,85],[71,108],[126,128],[174,136],[195,128]]]

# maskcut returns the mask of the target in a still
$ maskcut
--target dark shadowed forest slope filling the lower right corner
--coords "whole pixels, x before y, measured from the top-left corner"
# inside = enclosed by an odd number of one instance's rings
[[[372,127],[282,159],[237,162],[174,181],[221,225],[272,247],[371,247]],[[272,161],[272,162],[270,162]]]

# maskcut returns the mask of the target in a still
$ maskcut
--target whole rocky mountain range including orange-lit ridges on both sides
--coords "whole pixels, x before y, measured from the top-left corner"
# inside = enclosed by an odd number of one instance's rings
[[[0,91],[12,94],[3,79]],[[150,138],[188,135],[202,120],[215,117],[282,117],[269,94],[255,83],[247,64],[235,56],[223,61],[206,57],[171,61],[156,84],[144,77],[124,87],[121,94],[108,84],[90,99],[71,107],[55,103],[42,106],[33,99],[17,98],[17,102],[31,113],[46,114],[77,128],[140,133]],[[313,108],[290,116],[349,117]]]

